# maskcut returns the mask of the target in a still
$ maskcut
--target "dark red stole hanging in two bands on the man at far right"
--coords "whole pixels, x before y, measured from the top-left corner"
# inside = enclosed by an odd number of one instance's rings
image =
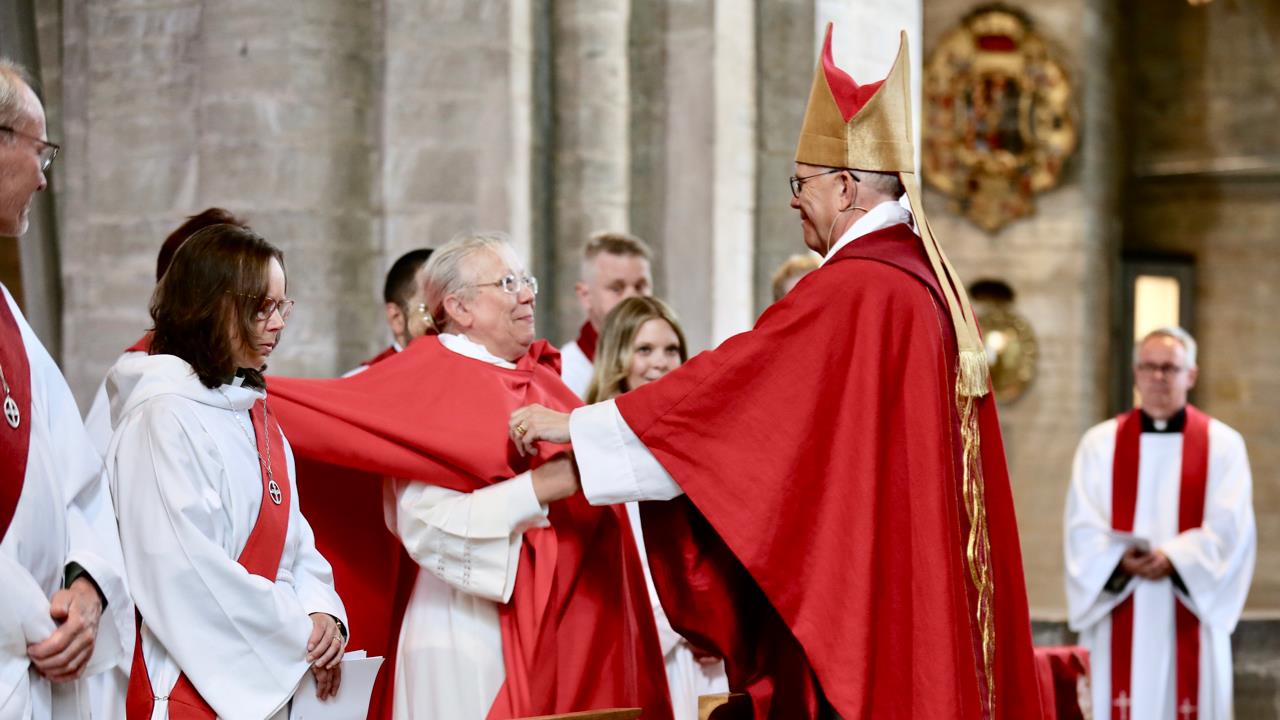
[[[1132,410],[1116,424],[1116,451],[1111,465],[1111,527],[1133,532],[1138,506],[1138,462],[1142,450],[1142,410]],[[1208,415],[1187,406],[1183,428],[1183,462],[1178,492],[1178,532],[1204,524],[1204,492],[1208,488]],[[1199,619],[1174,597],[1174,630],[1178,637],[1175,692],[1181,720],[1199,716]],[[1111,717],[1129,720],[1133,693],[1133,596],[1111,611]]]

